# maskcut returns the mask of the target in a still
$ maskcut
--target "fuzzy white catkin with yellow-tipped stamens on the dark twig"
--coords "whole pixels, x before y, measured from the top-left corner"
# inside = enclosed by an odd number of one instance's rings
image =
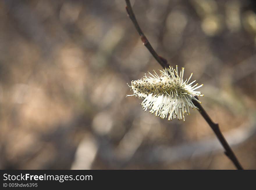
[[[177,65],[176,69],[169,67],[159,71],[161,75],[158,75],[155,71],[154,75],[148,72],[150,76],[145,74],[143,78],[131,81],[131,86],[128,86],[133,90],[134,94],[126,96],[145,98],[141,103],[143,110],[149,109],[149,112],[155,113],[155,116],[160,116],[163,119],[168,116],[168,120],[177,118],[185,121],[184,115],[190,114],[189,108],[197,108],[192,103],[192,100],[198,101],[194,96],[204,96],[201,92],[195,91],[202,87],[203,84],[199,86],[198,83],[193,85],[195,81],[189,83],[193,73],[189,78],[183,80],[184,67],[180,72],[178,72]]]

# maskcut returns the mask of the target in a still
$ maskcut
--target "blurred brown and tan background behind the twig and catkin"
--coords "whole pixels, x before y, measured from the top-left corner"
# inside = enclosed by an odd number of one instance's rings
[[[256,3],[131,1],[245,169],[256,169]],[[160,65],[123,0],[0,1],[0,169],[235,169],[199,112],[145,113],[127,82]]]

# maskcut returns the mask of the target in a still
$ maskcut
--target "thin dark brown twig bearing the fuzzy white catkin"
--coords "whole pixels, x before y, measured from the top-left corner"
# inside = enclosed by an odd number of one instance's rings
[[[161,56],[159,56],[157,54],[157,52],[153,49],[153,47],[151,46],[151,44],[149,43],[149,41],[147,40],[146,36],[143,34],[136,18],[135,15],[133,13],[133,10],[131,8],[131,3],[129,0],[125,0],[126,2],[126,10],[128,13],[128,16],[130,17],[131,21],[133,22],[137,32],[139,33],[139,35],[141,36],[141,41],[143,42],[143,44],[147,47],[147,49],[150,51],[150,53],[154,56],[154,58],[157,60],[157,62],[163,67],[163,68],[168,68],[169,64],[167,63],[167,60],[162,58]],[[196,97],[197,98],[197,97]],[[202,105],[200,103],[198,103],[197,101],[193,101],[194,105],[196,107],[198,107],[198,111],[200,112],[200,114],[203,116],[203,118],[205,119],[205,121],[208,123],[208,125],[211,127],[211,129],[214,131],[214,133],[216,134],[218,140],[221,142],[221,145],[223,146],[223,148],[225,149],[225,154],[226,156],[234,163],[234,165],[237,167],[237,169],[243,169],[242,166],[240,165],[239,161],[237,160],[237,157],[235,156],[234,152],[232,151],[232,149],[230,148],[230,146],[228,145],[226,139],[224,138],[223,134],[221,133],[221,130],[219,128],[219,125],[217,123],[214,123],[211,118],[209,117],[209,115],[205,112],[205,110],[203,109]]]

